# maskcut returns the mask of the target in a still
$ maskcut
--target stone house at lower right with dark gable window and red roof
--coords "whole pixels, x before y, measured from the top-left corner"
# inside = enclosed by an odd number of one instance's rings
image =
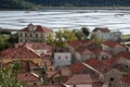
[[[95,76],[103,82],[103,86],[120,87],[121,72],[96,59],[90,59],[83,63],[89,72],[95,72]]]

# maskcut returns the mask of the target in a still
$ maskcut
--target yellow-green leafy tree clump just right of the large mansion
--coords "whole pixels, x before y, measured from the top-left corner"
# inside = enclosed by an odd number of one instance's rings
[[[72,30],[56,30],[54,35],[47,36],[47,44],[54,45],[56,47],[66,47],[67,42],[76,40],[77,37]]]

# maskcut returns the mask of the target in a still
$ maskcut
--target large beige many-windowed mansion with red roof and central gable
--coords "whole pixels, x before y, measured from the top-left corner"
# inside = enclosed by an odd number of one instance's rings
[[[52,33],[48,27],[41,25],[32,25],[31,23],[18,32],[18,42],[26,41],[42,41],[44,42],[47,36]]]

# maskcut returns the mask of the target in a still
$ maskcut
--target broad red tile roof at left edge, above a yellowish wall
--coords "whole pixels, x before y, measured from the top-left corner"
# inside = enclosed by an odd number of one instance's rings
[[[8,50],[8,51],[6,51]],[[13,49],[6,49],[1,52],[3,59],[36,59],[40,58],[40,54],[36,53],[32,49],[27,47],[20,47]]]

